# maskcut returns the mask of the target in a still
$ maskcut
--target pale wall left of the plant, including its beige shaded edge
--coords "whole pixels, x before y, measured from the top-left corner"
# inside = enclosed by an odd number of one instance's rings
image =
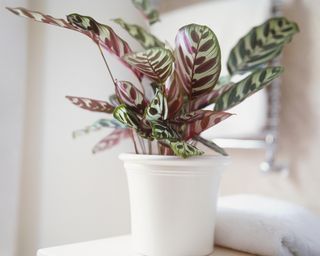
[[[56,17],[79,12],[110,24],[109,19],[118,16],[143,21],[127,0],[112,4],[34,0],[30,8]],[[15,19],[21,25],[27,22]],[[92,147],[109,131],[75,141],[71,138],[74,129],[104,115],[73,106],[65,95],[106,99],[113,91],[98,49],[81,34],[40,23],[30,23],[29,35],[19,256],[34,256],[39,247],[129,231],[127,186],[117,156],[131,151],[131,144],[122,143],[94,156]],[[119,79],[132,80],[115,60],[111,66]]]

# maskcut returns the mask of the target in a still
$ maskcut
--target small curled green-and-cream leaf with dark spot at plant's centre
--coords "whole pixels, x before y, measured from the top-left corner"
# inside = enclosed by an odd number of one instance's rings
[[[166,120],[168,118],[168,102],[166,96],[157,90],[154,98],[145,110],[145,119],[150,122]]]

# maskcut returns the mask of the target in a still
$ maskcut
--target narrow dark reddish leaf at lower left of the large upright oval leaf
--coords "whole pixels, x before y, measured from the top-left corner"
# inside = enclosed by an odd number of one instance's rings
[[[177,73],[174,71],[173,74],[166,81],[166,95],[168,100],[168,118],[172,118],[183,105],[183,93],[180,85],[180,80],[177,77]]]

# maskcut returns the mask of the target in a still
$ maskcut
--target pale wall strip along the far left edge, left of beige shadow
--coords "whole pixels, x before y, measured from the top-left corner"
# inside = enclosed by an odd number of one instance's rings
[[[26,1],[12,0],[22,5]],[[16,247],[23,105],[26,76],[26,24],[4,9],[0,1],[0,255]]]

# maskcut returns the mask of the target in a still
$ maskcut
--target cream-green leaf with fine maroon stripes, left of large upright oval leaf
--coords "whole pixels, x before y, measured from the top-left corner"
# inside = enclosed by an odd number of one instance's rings
[[[155,82],[164,84],[172,73],[173,55],[164,48],[155,47],[128,54],[124,60]]]

